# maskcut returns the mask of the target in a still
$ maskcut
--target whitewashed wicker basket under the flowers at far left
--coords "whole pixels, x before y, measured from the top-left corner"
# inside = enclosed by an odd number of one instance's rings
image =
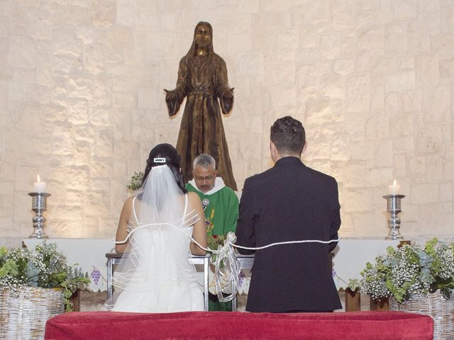
[[[0,288],[0,339],[44,339],[45,322],[64,311],[60,288]]]

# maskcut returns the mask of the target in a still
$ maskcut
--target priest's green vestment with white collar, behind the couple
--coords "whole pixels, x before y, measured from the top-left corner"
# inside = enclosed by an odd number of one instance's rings
[[[207,198],[209,205],[205,208],[205,223],[207,235],[226,235],[236,231],[238,220],[238,197],[226,186],[221,177],[216,177],[214,188],[206,193],[197,189],[194,180],[186,184],[187,191],[197,193],[200,200]],[[214,301],[216,300],[216,301]],[[231,311],[232,302],[218,302],[216,295],[209,296],[209,310]]]

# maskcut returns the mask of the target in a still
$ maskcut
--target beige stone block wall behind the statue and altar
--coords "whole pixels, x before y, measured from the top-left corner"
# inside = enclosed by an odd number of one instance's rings
[[[31,233],[36,174],[51,237],[114,236],[133,171],[176,142],[182,112],[168,118],[162,89],[201,20],[235,87],[223,123],[239,188],[289,114],[304,161],[338,179],[342,236],[387,234],[394,178],[403,234],[452,234],[453,1],[2,0],[2,236]]]

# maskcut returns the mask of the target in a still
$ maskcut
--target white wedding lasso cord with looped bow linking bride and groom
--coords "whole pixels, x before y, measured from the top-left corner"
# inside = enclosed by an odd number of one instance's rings
[[[188,214],[190,215],[191,212]],[[187,215],[187,216],[188,216]],[[194,217],[191,217],[189,220],[192,220]],[[195,222],[194,222],[195,223]],[[169,225],[171,227],[175,227],[179,229],[177,226],[172,225],[171,223],[148,223],[145,225],[140,225],[138,227],[134,227],[128,232],[128,236],[123,241],[116,241],[116,244],[124,244],[128,242],[131,235],[138,229],[142,229],[143,227],[153,227],[158,225]],[[238,259],[236,259],[235,250],[233,247],[246,249],[246,250],[261,250],[270,248],[271,246],[279,246],[282,244],[301,244],[301,243],[321,243],[321,244],[330,244],[332,242],[338,242],[339,238],[331,239],[329,241],[322,241],[320,239],[305,239],[299,241],[284,241],[284,242],[275,242],[272,244],[267,244],[266,246],[240,246],[235,244],[236,242],[236,234],[233,232],[228,232],[226,239],[224,240],[223,246],[219,245],[217,250],[205,248],[201,246],[199,242],[197,242],[192,236],[189,236],[194,244],[199,246],[200,249],[204,251],[208,251],[210,253],[216,254],[216,261],[214,262],[214,282],[216,288],[216,295],[218,296],[218,300],[220,302],[228,302],[233,300],[236,297],[236,293],[238,293],[238,286],[239,280],[238,276],[240,274],[240,263]],[[221,269],[222,268],[222,269]]]

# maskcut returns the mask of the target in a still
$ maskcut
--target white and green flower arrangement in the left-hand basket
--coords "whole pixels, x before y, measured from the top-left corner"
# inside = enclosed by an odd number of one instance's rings
[[[27,248],[0,248],[0,288],[18,290],[21,286],[62,288],[67,311],[73,308],[70,297],[89,278],[74,266],[68,266],[66,256],[56,244],[38,244],[34,250]]]

